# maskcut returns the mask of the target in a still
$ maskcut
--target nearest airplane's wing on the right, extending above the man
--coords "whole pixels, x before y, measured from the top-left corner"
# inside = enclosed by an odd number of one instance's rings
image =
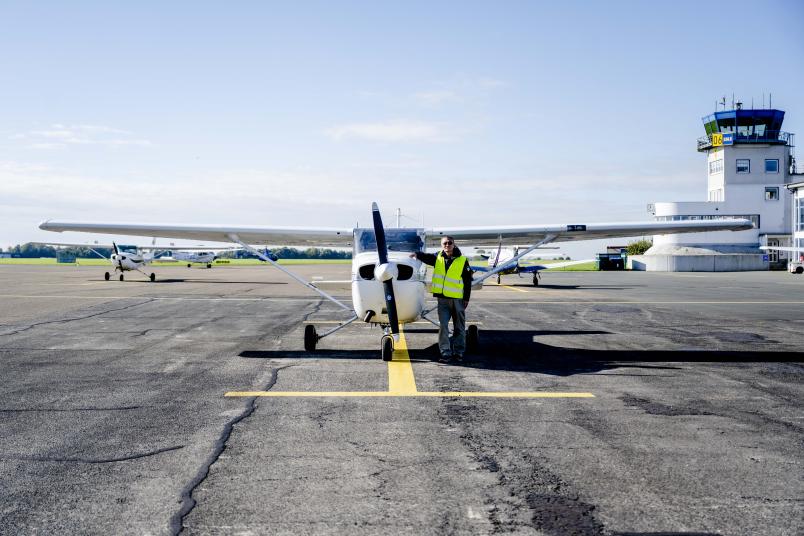
[[[640,235],[744,231],[752,227],[753,225],[749,220],[688,220],[542,226],[438,227],[429,230],[427,235],[428,237],[450,235],[459,244],[496,246],[500,243],[502,245],[546,244],[550,242],[573,242]]]

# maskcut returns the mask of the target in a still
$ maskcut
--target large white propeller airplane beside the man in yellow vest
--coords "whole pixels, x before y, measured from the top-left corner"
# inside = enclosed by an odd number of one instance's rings
[[[39,228],[46,231],[77,231],[97,234],[118,234],[175,238],[214,242],[233,242],[270,263],[277,269],[320,296],[348,311],[351,317],[338,326],[317,333],[313,325],[305,326],[304,348],[312,352],[318,341],[351,324],[355,320],[383,328],[381,355],[390,361],[394,343],[399,340],[399,325],[420,318],[436,324],[427,317],[432,309],[425,308],[426,266],[410,257],[410,253],[425,249],[429,239],[452,236],[459,244],[490,246],[497,244],[532,244],[518,252],[510,262],[551,242],[568,242],[600,238],[617,238],[649,234],[677,234],[704,231],[740,231],[751,229],[748,220],[692,220],[644,223],[603,223],[569,225],[510,225],[487,227],[389,228],[383,227],[380,210],[372,204],[374,228],[310,228],[310,227],[240,227],[215,225],[170,225],[134,223],[89,223],[45,221]],[[330,296],[301,276],[279,265],[269,256],[249,244],[286,244],[293,246],[344,247],[352,246],[352,304]],[[497,266],[473,281],[481,285],[497,275],[505,266]],[[437,324],[436,324],[437,325]],[[467,343],[476,344],[477,327],[467,330]]]

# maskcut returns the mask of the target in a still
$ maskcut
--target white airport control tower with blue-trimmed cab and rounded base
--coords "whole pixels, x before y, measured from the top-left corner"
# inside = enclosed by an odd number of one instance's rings
[[[760,246],[792,245],[792,196],[795,182],[793,134],[782,130],[784,111],[734,109],[703,118],[707,198],[700,202],[648,205],[659,221],[751,220],[749,231],[663,235],[653,238],[632,268],[649,271],[742,271],[785,269],[790,254]],[[799,176],[800,177],[800,176]]]

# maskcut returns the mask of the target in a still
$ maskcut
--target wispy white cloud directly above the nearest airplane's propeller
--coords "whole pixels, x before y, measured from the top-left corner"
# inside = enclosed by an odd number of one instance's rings
[[[335,141],[360,139],[379,142],[445,142],[453,136],[443,123],[407,119],[380,123],[351,123],[326,130]]]

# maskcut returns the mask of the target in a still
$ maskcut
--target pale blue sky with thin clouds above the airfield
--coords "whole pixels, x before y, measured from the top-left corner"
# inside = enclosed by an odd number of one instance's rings
[[[351,226],[375,200],[425,225],[645,220],[706,199],[718,97],[772,93],[804,135],[798,1],[5,2],[0,21],[0,247],[59,238],[51,218]]]

